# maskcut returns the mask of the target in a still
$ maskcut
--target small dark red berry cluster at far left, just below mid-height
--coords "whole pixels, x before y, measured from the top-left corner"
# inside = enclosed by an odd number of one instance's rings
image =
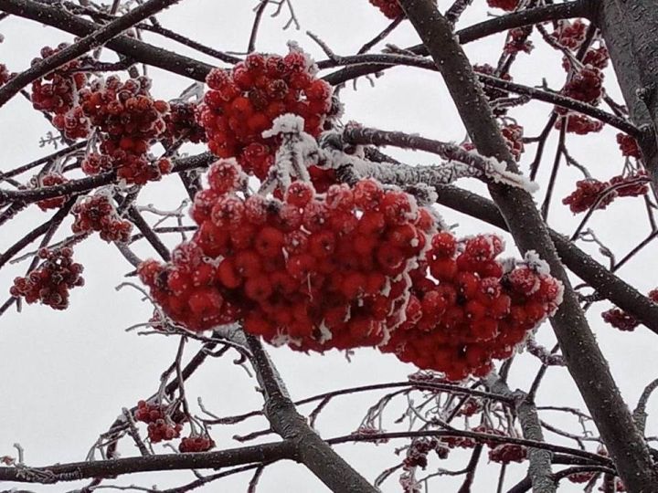
[[[73,250],[41,248],[38,257],[43,263],[25,278],[15,278],[9,289],[12,296],[23,297],[27,303],[41,301],[53,309],[69,306],[69,289],[84,285],[80,277],[82,266],[73,262]]]

